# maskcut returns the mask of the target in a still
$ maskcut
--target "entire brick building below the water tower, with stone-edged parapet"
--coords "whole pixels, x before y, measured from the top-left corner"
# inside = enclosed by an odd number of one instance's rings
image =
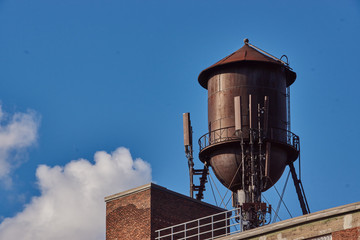
[[[107,240],[153,240],[156,237],[155,230],[224,212],[224,209],[153,183],[108,196],[105,202]],[[216,222],[216,219],[214,221]],[[228,223],[225,221],[220,227],[224,224],[228,226]],[[205,227],[199,231],[208,230],[209,228]],[[187,233],[188,236],[191,235],[191,231]],[[226,227],[221,232],[201,235],[199,239],[213,237],[218,240],[360,240],[360,202],[217,237],[224,233],[229,233]],[[173,239],[183,237],[173,235]]]

